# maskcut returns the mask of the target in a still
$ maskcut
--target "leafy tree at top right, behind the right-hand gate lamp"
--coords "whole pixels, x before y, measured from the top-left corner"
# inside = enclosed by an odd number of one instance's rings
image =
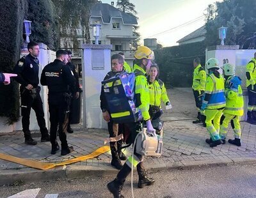
[[[226,45],[240,45],[241,49],[256,47],[256,1],[225,0],[207,8],[205,44],[219,43],[217,29],[228,27]]]

